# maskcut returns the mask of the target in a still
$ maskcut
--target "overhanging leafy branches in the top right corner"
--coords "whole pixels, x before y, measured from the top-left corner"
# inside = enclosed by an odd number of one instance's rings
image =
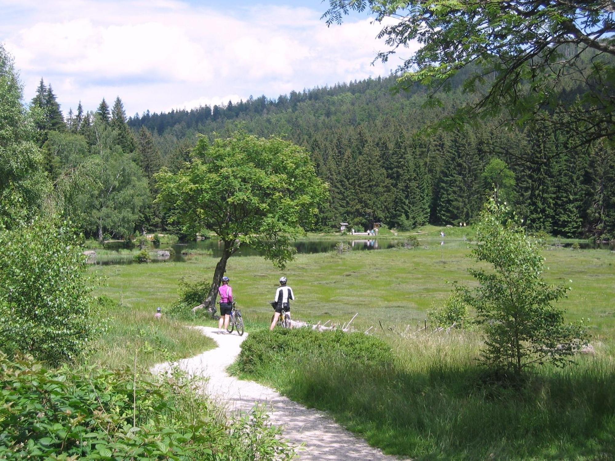
[[[402,57],[402,87],[415,82],[435,91],[461,77],[478,95],[457,112],[456,121],[502,112],[519,124],[544,119],[554,124],[571,114],[568,128],[585,143],[615,137],[613,73],[615,8],[603,0],[329,0],[327,24],[341,23],[352,10],[383,23],[379,37],[391,55],[418,42]],[[391,20],[392,19],[392,20]],[[409,53],[410,54],[410,53]],[[463,69],[463,73],[460,72]],[[574,83],[563,86],[567,77]],[[561,98],[561,90],[578,95]]]

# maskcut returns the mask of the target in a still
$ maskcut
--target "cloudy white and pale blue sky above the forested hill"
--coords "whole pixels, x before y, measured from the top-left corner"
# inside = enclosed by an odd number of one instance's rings
[[[380,25],[327,28],[320,0],[0,0],[0,42],[33,96],[53,85],[66,113],[122,98],[127,114],[277,97],[387,75]]]

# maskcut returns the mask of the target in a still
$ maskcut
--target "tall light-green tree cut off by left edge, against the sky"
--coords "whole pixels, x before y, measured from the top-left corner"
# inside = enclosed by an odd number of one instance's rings
[[[0,45],[0,230],[36,213],[49,184],[13,60]]]

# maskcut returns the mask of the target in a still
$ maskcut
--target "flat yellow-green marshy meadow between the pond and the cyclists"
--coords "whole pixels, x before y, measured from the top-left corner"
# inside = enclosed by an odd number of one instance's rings
[[[460,230],[466,230],[462,228]],[[280,275],[288,277],[296,294],[292,315],[296,320],[349,321],[359,313],[353,325],[384,328],[423,325],[427,310],[443,302],[450,294],[451,283],[474,284],[467,272],[472,261],[467,258],[469,243],[462,239],[440,239],[419,235],[419,248],[406,250],[356,251],[338,254],[300,254],[284,272],[257,256],[235,256],[228,261],[237,306],[241,309],[249,332],[266,325]],[[613,355],[615,338],[615,253],[605,250],[568,248],[544,251],[545,278],[550,283],[566,283],[573,288],[566,299],[558,302],[566,310],[566,319],[590,318],[591,342],[599,353]],[[442,260],[444,262],[442,262]],[[186,262],[94,266],[93,274],[103,278],[98,294],[121,301],[122,309],[146,313],[149,321],[156,307],[165,309],[177,300],[178,282],[210,281],[217,260],[194,254]],[[569,282],[572,280],[572,282]],[[472,313],[470,312],[470,315]],[[202,323],[214,325],[214,323]],[[364,331],[364,330],[363,330]]]

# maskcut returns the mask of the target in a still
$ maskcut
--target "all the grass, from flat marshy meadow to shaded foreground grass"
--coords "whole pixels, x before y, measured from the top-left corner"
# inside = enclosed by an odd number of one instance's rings
[[[391,454],[421,460],[613,459],[615,253],[544,248],[544,277],[572,287],[559,305],[568,320],[589,319],[596,353],[577,357],[565,369],[544,366],[520,389],[502,388],[475,360],[480,332],[418,331],[427,309],[448,296],[451,282],[474,283],[467,272],[475,264],[468,256],[471,236],[462,235],[447,235],[444,245],[418,235],[412,249],[300,254],[283,271],[256,256],[229,259],[227,275],[248,332],[266,328],[268,301],[284,274],[296,294],[293,318],[341,325],[359,313],[355,329],[373,327],[370,333],[391,349],[391,361],[365,367],[309,347],[287,352],[284,361],[271,350],[248,371],[241,361],[232,370],[330,412]],[[181,277],[209,280],[216,262],[194,252],[186,262],[92,267],[104,280],[98,294],[122,305],[101,339],[106,352],[98,360],[132,363],[127,349],[143,349],[143,341],[161,345],[172,357],[212,347],[185,325],[153,316],[177,299]],[[137,339],[130,336],[139,329]],[[157,354],[143,354],[139,363],[154,363],[162,357]]]

